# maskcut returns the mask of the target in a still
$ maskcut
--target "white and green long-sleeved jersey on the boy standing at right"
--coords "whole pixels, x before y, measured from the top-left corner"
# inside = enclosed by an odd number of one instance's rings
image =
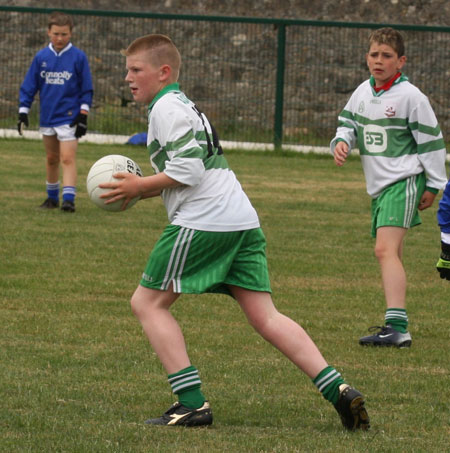
[[[428,98],[404,75],[387,91],[363,82],[339,115],[336,137],[359,148],[367,192],[377,198],[387,186],[425,171],[426,186],[445,187],[446,150]]]

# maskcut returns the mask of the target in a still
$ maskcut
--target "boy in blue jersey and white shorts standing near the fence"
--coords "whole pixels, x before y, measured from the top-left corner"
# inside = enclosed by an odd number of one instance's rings
[[[48,47],[34,57],[20,87],[17,129],[22,135],[39,91],[39,131],[47,154],[47,199],[43,209],[59,207],[59,170],[63,173],[61,209],[75,212],[78,139],[86,134],[92,104],[92,79],[86,55],[70,42],[73,21],[53,12],[48,21]]]

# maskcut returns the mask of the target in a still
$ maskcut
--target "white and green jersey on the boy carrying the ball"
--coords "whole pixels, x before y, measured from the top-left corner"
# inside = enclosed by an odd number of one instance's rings
[[[208,119],[178,83],[158,93],[149,106],[148,121],[153,169],[183,184],[161,194],[171,224],[201,231],[259,227],[255,209],[220,146],[213,143]]]

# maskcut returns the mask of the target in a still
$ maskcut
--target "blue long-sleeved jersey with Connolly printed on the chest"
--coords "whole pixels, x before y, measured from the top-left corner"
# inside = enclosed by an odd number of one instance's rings
[[[41,127],[70,124],[92,104],[92,78],[87,57],[69,43],[57,53],[51,44],[40,50],[20,87],[19,111],[28,113],[39,91]]]

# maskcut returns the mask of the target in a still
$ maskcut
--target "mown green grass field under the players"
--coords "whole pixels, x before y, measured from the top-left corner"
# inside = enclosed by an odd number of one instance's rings
[[[408,350],[365,349],[383,323],[358,158],[228,152],[268,240],[274,300],[366,396],[372,428],[349,433],[310,380],[246,324],[231,298],[183,296],[174,314],[211,401],[208,429],[150,428],[172,403],[129,299],[166,225],[159,199],[108,213],[86,195],[92,163],[144,148],[82,144],[77,212],[42,212],[38,141],[2,140],[0,451],[443,452],[449,450],[450,283],[435,268],[435,206],[405,244]]]

